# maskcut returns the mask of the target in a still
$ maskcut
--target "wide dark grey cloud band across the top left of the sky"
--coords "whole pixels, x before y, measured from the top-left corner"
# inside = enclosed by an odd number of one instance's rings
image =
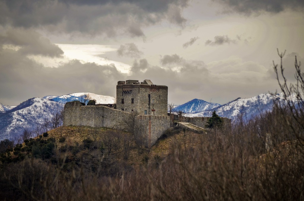
[[[1,1],[0,24],[49,31],[81,32],[109,37],[128,32],[144,36],[142,27],[162,20],[183,26],[188,0],[121,1]]]

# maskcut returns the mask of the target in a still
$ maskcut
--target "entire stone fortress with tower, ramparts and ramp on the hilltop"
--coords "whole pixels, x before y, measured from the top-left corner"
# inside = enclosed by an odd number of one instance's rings
[[[118,81],[116,108],[105,105],[85,106],[79,101],[67,102],[64,106],[63,125],[107,127],[130,131],[127,122],[132,120],[134,132],[135,130],[139,132],[145,145],[150,147],[165,130],[173,127],[176,121],[189,130],[199,130],[204,128],[209,119],[168,114],[168,87],[155,85],[151,80],[140,83],[138,80]],[[223,120],[230,123],[227,118]]]

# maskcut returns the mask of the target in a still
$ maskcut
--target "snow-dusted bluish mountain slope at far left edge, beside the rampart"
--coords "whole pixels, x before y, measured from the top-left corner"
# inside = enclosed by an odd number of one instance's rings
[[[0,140],[14,139],[22,133],[24,128],[33,129],[36,124],[43,123],[44,119],[57,110],[62,110],[64,104],[43,98],[31,98],[0,115]]]

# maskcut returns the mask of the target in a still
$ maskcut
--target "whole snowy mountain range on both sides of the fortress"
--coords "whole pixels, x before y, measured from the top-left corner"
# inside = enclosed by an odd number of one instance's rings
[[[14,139],[24,128],[30,130],[37,124],[43,123],[58,110],[62,110],[66,102],[81,100],[81,96],[88,94],[96,104],[112,104],[116,99],[92,93],[74,93],[63,96],[46,96],[31,98],[18,106],[0,104],[0,140]],[[221,117],[236,119],[240,114],[246,121],[265,111],[272,109],[274,102],[286,104],[286,99],[296,100],[295,95],[285,98],[282,94],[260,94],[251,98],[237,98],[226,104],[210,103],[204,100],[193,99],[185,104],[174,107],[174,111],[183,111],[187,117],[210,117],[216,111]]]

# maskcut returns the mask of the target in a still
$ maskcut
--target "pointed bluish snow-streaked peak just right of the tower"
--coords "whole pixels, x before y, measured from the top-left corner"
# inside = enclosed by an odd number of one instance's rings
[[[205,100],[193,99],[189,102],[179,105],[174,108],[174,111],[183,111],[184,113],[198,113],[202,111],[209,111],[215,107],[219,107],[220,104],[217,103],[209,103]]]

